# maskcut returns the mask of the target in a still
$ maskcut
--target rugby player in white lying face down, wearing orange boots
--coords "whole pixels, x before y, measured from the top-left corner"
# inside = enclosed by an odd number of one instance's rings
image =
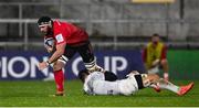
[[[125,79],[117,79],[109,82],[105,79],[107,75],[102,72],[93,72],[88,74],[82,71],[78,77],[83,80],[83,89],[88,95],[125,95],[135,94],[142,88],[168,89],[179,96],[187,94],[192,87],[193,83],[186,86],[177,86],[170,82],[160,78],[156,74],[139,74],[137,71],[130,72]]]

